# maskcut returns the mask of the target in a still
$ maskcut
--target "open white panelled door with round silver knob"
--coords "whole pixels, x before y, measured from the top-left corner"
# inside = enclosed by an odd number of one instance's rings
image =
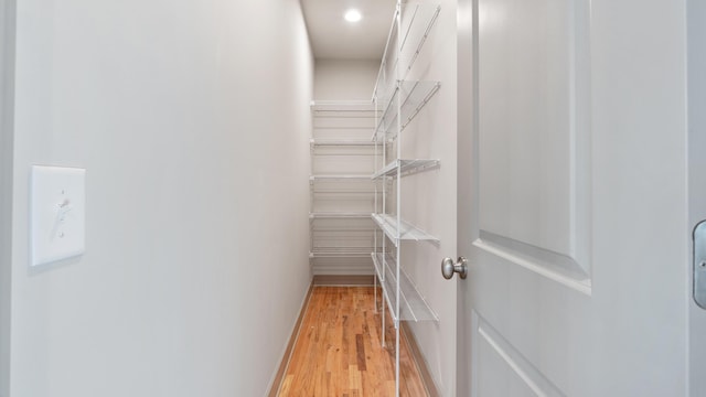
[[[459,395],[688,394],[685,8],[459,2]]]

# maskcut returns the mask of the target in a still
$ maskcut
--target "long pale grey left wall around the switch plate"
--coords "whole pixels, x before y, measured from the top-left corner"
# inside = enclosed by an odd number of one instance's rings
[[[261,396],[310,282],[299,2],[18,3],[12,396]],[[28,268],[28,175],[87,169]]]

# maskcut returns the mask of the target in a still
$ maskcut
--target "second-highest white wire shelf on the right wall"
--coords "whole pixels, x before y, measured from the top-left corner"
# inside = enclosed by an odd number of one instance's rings
[[[400,131],[403,131],[440,87],[441,83],[434,81],[399,81],[393,88],[389,100],[384,100],[386,106],[373,133],[373,141],[394,138],[397,117],[402,120]],[[396,109],[398,99],[402,100],[399,115]]]

